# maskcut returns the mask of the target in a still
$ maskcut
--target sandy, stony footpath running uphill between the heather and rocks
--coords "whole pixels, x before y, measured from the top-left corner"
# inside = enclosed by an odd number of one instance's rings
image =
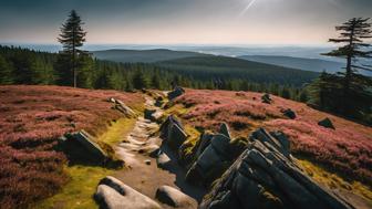
[[[154,101],[146,97],[146,108],[156,108]],[[184,194],[195,199],[193,208],[197,208],[205,190],[185,182],[185,170],[177,164],[176,157],[167,146],[162,145],[162,139],[152,137],[151,135],[158,129],[158,125],[140,116],[135,127],[127,136],[126,140],[116,148],[117,154],[125,160],[128,169],[117,171],[114,177],[122,180],[124,184],[136,189],[137,191],[155,199],[155,194],[158,187],[167,185],[178,188]],[[161,150],[170,158],[168,169],[157,167],[156,158],[148,156],[148,153],[161,147]],[[148,165],[148,160],[151,161]],[[164,208],[169,208],[162,205]]]

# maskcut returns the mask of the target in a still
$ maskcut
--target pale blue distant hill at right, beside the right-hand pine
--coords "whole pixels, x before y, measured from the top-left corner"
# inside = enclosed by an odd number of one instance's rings
[[[344,64],[341,62],[326,61],[320,59],[303,59],[276,55],[244,55],[239,58],[254,62],[275,64],[279,66],[300,69],[312,72],[327,71],[329,73],[334,73],[342,71],[342,67],[344,67]]]

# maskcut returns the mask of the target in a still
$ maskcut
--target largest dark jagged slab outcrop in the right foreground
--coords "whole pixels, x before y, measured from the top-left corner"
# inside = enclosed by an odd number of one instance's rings
[[[260,128],[249,139],[248,148],[205,196],[200,209],[353,208],[302,173],[281,133]]]

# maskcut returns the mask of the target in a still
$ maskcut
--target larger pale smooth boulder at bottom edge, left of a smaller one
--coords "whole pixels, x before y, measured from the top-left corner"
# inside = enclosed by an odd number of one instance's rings
[[[104,209],[162,208],[156,201],[111,176],[107,176],[100,181],[94,199],[97,201],[100,207]]]

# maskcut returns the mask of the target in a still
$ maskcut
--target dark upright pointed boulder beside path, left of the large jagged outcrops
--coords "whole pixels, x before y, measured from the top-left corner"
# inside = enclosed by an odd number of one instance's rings
[[[167,119],[162,124],[161,136],[174,150],[178,150],[179,146],[187,138],[184,126],[173,115],[168,116]]]

